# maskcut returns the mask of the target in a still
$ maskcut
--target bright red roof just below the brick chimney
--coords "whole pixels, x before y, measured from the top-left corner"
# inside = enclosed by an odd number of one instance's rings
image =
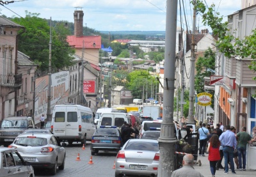
[[[74,46],[76,49],[100,49],[101,48],[101,36],[67,36],[67,42],[69,45]],[[95,47],[93,46],[95,43]]]

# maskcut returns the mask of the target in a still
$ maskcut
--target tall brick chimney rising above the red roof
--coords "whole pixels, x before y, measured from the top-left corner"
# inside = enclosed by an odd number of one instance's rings
[[[83,10],[75,10],[74,12],[74,35],[76,37],[83,36]]]

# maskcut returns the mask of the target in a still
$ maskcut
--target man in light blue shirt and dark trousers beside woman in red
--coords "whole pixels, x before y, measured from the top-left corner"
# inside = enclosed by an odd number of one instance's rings
[[[230,131],[230,125],[226,125],[226,131],[220,136],[220,141],[223,140],[223,155],[225,158],[225,174],[228,174],[228,160],[230,161],[230,167],[232,174],[236,174],[234,169],[234,151],[236,151],[236,136]],[[233,149],[234,148],[234,149]]]

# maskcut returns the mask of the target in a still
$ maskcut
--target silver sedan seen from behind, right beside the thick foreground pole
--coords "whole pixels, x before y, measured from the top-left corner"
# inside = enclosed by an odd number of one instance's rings
[[[158,141],[129,139],[116,155],[115,176],[124,176],[124,174],[157,176],[159,156]]]

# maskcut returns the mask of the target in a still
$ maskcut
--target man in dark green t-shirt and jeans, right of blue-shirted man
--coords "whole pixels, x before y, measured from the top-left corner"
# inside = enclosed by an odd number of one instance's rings
[[[246,127],[242,127],[242,132],[236,134],[238,138],[237,142],[237,153],[238,153],[238,161],[239,161],[239,171],[246,171],[246,146],[248,142],[251,144],[251,136],[246,132]],[[243,158],[243,169],[242,169],[242,158]]]

